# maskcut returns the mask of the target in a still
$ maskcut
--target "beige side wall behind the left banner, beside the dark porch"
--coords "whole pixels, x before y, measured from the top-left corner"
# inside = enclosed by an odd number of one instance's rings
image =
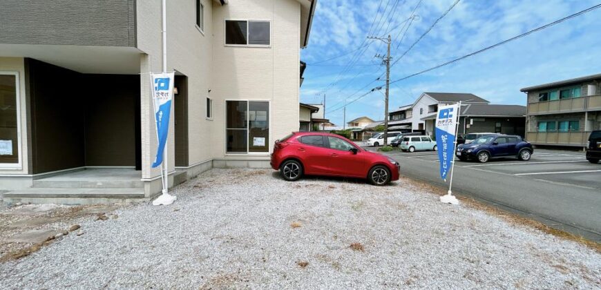
[[[206,97],[211,83],[213,1],[204,0],[204,34],[195,25],[195,1],[167,1],[167,71],[188,77],[189,164],[211,159],[213,121],[206,119]],[[162,70],[161,2],[137,1],[137,48],[141,56],[142,106],[142,178],[160,175],[159,168],[150,168],[157,148],[151,85],[148,72]],[[176,96],[177,97],[177,96]],[[173,104],[172,104],[173,105]],[[169,171],[175,166],[173,106],[169,122]]]

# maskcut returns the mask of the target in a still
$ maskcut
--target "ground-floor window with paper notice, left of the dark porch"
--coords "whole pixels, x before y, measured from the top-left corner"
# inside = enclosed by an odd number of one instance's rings
[[[0,168],[20,163],[18,84],[17,73],[0,72]]]

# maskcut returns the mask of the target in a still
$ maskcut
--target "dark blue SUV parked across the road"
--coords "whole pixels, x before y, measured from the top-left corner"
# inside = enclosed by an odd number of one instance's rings
[[[477,160],[488,162],[491,158],[517,157],[522,161],[530,160],[534,150],[532,145],[516,135],[484,135],[470,144],[457,146],[455,155],[459,160]]]

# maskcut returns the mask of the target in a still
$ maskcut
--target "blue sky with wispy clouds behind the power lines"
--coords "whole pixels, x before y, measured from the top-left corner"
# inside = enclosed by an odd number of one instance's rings
[[[372,28],[373,35],[390,32],[392,36],[394,62],[455,0],[423,0],[415,12],[418,17],[407,21],[418,2],[318,1],[309,46],[301,52],[301,60],[308,65],[300,101],[320,104],[325,91],[326,117],[341,126],[343,110],[332,110],[341,108],[345,99],[350,101],[370,88],[384,85],[384,81],[374,81],[385,71],[381,60],[374,55],[385,55],[385,43],[363,42],[374,16],[378,15],[375,23],[379,25]],[[436,66],[598,3],[461,0],[392,66],[390,79]],[[520,88],[601,72],[600,19],[601,8],[455,64],[391,84],[389,108],[411,104],[423,92],[473,93],[493,104],[525,105],[526,97],[519,92]],[[357,50],[362,43],[365,49]],[[356,51],[343,55],[352,50]],[[323,61],[338,55],[343,56]],[[352,59],[356,59],[355,65],[347,68]],[[383,119],[383,112],[384,97],[376,91],[347,106],[346,119],[363,115]]]

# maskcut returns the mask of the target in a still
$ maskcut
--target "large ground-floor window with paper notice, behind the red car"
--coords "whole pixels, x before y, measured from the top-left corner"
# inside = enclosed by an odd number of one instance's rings
[[[269,152],[269,101],[227,101],[227,153]]]

